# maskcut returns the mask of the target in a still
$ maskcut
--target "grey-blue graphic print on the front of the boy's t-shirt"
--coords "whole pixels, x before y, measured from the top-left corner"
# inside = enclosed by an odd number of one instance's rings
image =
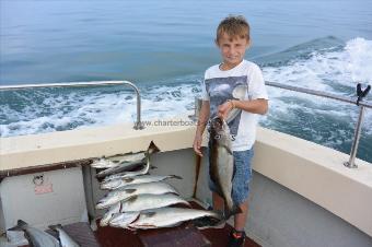
[[[236,86],[247,86],[247,75],[243,77],[229,77],[229,78],[212,78],[205,81],[206,90],[209,95],[210,101],[210,119],[217,116],[218,107],[232,99],[233,91]],[[229,122],[230,133],[232,139],[237,134],[239,124],[241,120],[240,111],[237,116]]]

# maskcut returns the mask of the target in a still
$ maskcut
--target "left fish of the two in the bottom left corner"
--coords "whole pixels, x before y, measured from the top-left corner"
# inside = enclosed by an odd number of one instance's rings
[[[57,238],[42,230],[30,226],[22,220],[19,220],[16,226],[8,231],[23,231],[30,247],[60,247]]]

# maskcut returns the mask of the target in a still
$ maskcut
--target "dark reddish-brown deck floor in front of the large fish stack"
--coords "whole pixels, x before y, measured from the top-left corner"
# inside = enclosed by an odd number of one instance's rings
[[[191,202],[191,205],[201,209],[195,202]],[[97,225],[98,223],[97,221]],[[95,232],[92,232],[86,223],[75,223],[66,225],[63,228],[81,247],[98,247],[100,245],[101,247],[225,247],[232,226],[225,224],[223,228],[197,230],[191,223],[184,223],[172,228],[140,230],[137,232],[98,226]],[[259,245],[246,237],[245,247],[259,247]]]

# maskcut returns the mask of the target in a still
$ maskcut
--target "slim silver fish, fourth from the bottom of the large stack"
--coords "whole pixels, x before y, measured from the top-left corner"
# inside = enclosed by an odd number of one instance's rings
[[[117,179],[112,179],[108,181],[101,183],[100,187],[101,189],[117,189],[121,188],[128,185],[136,185],[136,184],[143,184],[143,183],[152,183],[152,181],[162,181],[168,178],[177,178],[182,179],[182,177],[176,175],[167,175],[167,176],[161,176],[161,175],[141,175],[141,176],[132,176],[132,177],[123,177]]]

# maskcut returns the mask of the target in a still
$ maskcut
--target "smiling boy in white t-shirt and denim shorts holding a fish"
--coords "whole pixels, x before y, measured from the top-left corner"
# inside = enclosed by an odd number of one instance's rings
[[[194,151],[202,156],[201,137],[209,118],[220,116],[229,119],[234,156],[232,198],[242,210],[242,213],[234,215],[234,228],[230,234],[229,246],[244,246],[253,144],[256,139],[258,115],[264,115],[268,110],[268,96],[260,69],[255,63],[244,60],[251,37],[249,25],[243,16],[230,15],[219,24],[216,45],[221,51],[222,63],[210,67],[205,73],[202,105]],[[241,90],[240,93],[237,89]],[[234,118],[231,119],[229,113],[234,108],[239,109],[239,114],[234,114]],[[212,190],[213,209],[223,211],[223,199],[217,193],[211,180],[209,187]]]

